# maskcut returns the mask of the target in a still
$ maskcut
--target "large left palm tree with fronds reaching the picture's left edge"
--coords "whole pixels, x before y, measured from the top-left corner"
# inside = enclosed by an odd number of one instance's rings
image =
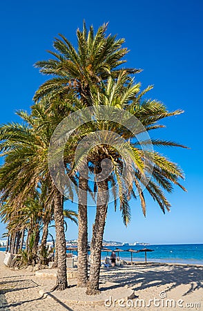
[[[0,128],[0,151],[6,156],[0,169],[0,189],[2,202],[8,198],[22,200],[30,191],[50,178],[48,171],[48,147],[55,123],[50,123],[44,106],[37,104],[32,116],[18,113],[26,124],[6,124]],[[52,117],[53,119],[54,117]],[[58,122],[56,117],[55,122]],[[56,288],[67,288],[66,278],[66,240],[64,234],[64,198],[50,180],[51,191],[48,202],[54,206],[57,238],[58,272]]]

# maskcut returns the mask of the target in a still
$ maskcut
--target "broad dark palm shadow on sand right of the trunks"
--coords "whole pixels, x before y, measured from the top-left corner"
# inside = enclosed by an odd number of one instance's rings
[[[108,275],[101,276],[100,281],[101,283],[114,282],[116,284],[108,288],[101,288],[101,290],[119,288],[127,285],[129,288],[138,291],[160,285],[167,285],[168,287],[169,283],[173,283],[166,292],[173,290],[173,288],[177,288],[179,285],[185,284],[189,285],[189,290],[182,296],[186,296],[202,288],[203,280],[200,279],[200,274],[203,270],[202,267],[186,267],[181,265],[159,265],[158,267],[159,269],[157,269],[157,265],[150,265],[146,267],[119,267],[111,271],[109,269]],[[163,270],[162,267],[164,267]],[[166,267],[168,267],[167,270]],[[124,271],[122,272],[122,270]]]

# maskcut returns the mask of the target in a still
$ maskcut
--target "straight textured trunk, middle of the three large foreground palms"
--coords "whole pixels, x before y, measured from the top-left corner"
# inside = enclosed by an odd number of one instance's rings
[[[78,202],[78,257],[77,286],[84,288],[88,282],[88,216],[87,216],[87,180],[79,176]],[[81,189],[81,191],[80,191]]]

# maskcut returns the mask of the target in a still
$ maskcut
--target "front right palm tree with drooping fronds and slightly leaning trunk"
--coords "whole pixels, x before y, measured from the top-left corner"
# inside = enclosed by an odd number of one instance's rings
[[[95,180],[97,187],[97,212],[95,216],[95,223],[93,225],[93,238],[91,241],[91,265],[90,265],[90,276],[88,281],[88,294],[97,294],[99,290],[99,269],[101,263],[101,247],[104,234],[104,226],[106,221],[106,214],[108,208],[108,187],[110,182],[114,184],[117,181],[117,198],[119,199],[120,209],[124,217],[124,222],[128,223],[130,220],[130,210],[128,200],[129,197],[135,194],[135,189],[139,193],[139,198],[142,205],[144,216],[146,215],[146,203],[144,200],[144,194],[142,191],[142,185],[146,187],[146,190],[151,194],[152,198],[160,205],[163,212],[170,209],[170,203],[166,199],[164,192],[161,188],[168,191],[169,193],[173,189],[174,185],[179,185],[182,189],[182,185],[178,182],[179,178],[184,178],[182,170],[177,164],[167,160],[166,157],[160,155],[157,151],[144,151],[142,150],[144,145],[149,144],[149,140],[137,141],[135,133],[132,133],[130,129],[126,129],[122,122],[117,123],[115,119],[112,121],[112,116],[115,114],[115,109],[119,111],[131,111],[131,115],[135,115],[138,120],[142,121],[144,126],[137,127],[137,134],[143,131],[151,131],[162,127],[157,124],[157,121],[178,115],[182,111],[168,112],[164,104],[156,102],[154,100],[144,101],[142,96],[151,87],[148,87],[145,91],[139,91],[139,84],[134,84],[133,80],[129,83],[124,83],[129,78],[126,73],[119,75],[115,82],[111,77],[108,79],[108,84],[104,88],[103,93],[95,92],[93,90],[92,98],[95,104],[95,121],[89,124],[89,142],[95,132],[98,131],[111,131],[119,134],[124,139],[122,148],[126,150],[128,156],[131,158],[133,163],[131,169],[133,171],[133,186],[128,185],[128,176],[126,179],[122,179],[122,154],[121,151],[116,150],[115,146],[111,146],[109,136],[106,138],[106,144],[97,145],[92,151],[88,153],[88,162],[92,163],[95,173],[101,172],[101,160],[109,159],[113,164],[113,173],[108,179],[103,181]],[[108,111],[109,119],[101,120],[102,110],[99,109],[100,105],[105,105],[106,112]],[[115,108],[116,107],[116,108]],[[120,114],[121,115],[121,114]],[[125,115],[123,115],[125,118]],[[111,120],[111,121],[108,121]],[[120,120],[120,119],[119,119]],[[129,121],[129,117],[126,122]],[[132,120],[131,120],[132,122]],[[92,135],[93,134],[93,135]],[[166,140],[151,140],[153,146],[162,147],[184,147],[181,144]],[[83,159],[86,158],[86,152],[83,151],[81,159],[78,160],[77,166],[81,165]],[[152,170],[153,168],[153,170]],[[104,172],[105,173],[105,172]],[[147,178],[148,174],[151,173],[151,180]],[[105,176],[104,176],[105,177]],[[126,185],[125,185],[126,184]],[[127,190],[127,191],[126,191]],[[185,189],[184,189],[185,190]],[[106,195],[105,195],[106,193]],[[115,196],[116,197],[116,196]],[[115,201],[117,202],[117,201]]]

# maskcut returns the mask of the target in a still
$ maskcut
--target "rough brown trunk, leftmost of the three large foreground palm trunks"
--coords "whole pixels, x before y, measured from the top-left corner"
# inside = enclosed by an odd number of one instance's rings
[[[55,186],[53,186],[55,187]],[[68,288],[67,274],[66,274],[66,237],[64,232],[64,214],[63,214],[63,196],[55,187],[55,229],[57,241],[57,256],[58,256],[58,270],[57,283],[54,290],[65,290]]]

